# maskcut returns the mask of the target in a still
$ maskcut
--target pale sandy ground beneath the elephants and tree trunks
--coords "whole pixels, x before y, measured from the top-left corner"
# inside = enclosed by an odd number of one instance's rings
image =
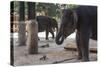
[[[81,62],[77,60],[77,51],[68,51],[64,47],[68,43],[75,43],[75,34],[69,36],[62,45],[57,45],[55,40],[49,36],[49,40],[45,40],[44,33],[39,33],[40,41],[38,41],[38,54],[28,54],[27,46],[18,46],[18,36],[14,34],[14,65],[42,65],[42,64],[54,64],[54,63],[73,63]],[[92,43],[92,47],[97,48],[95,41]],[[43,47],[43,45],[49,45]],[[41,59],[46,56],[46,59]],[[59,62],[60,61],[60,62]],[[90,61],[97,61],[97,54],[90,53]]]

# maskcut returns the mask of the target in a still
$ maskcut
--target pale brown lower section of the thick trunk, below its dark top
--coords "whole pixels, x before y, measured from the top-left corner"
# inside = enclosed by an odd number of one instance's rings
[[[28,53],[38,53],[38,24],[34,20],[28,21]]]

